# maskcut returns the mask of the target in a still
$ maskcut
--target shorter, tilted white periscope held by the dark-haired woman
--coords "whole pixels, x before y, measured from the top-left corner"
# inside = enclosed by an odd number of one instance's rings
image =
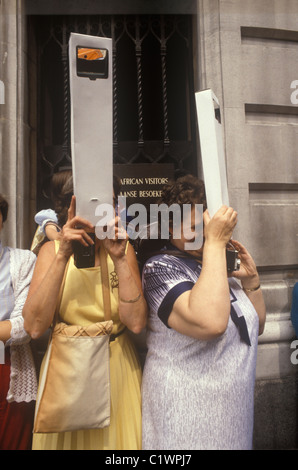
[[[229,206],[220,106],[212,90],[195,94],[207,207],[212,217]]]

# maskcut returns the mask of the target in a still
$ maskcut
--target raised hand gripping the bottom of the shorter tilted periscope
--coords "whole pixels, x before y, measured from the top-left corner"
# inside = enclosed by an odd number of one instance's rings
[[[237,224],[237,212],[232,207],[222,206],[212,219],[208,211],[204,212],[203,217],[205,242],[226,246]]]

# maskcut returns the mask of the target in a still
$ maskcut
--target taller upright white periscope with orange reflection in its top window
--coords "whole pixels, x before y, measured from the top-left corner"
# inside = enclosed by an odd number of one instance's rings
[[[71,152],[76,214],[96,225],[113,204],[112,39],[71,33]]]

